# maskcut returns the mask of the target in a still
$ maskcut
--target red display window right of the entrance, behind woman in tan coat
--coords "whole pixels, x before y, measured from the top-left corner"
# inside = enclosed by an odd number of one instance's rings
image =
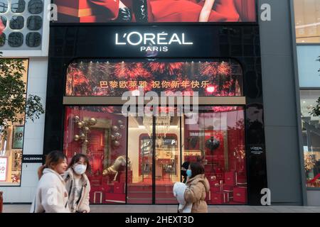
[[[245,122],[240,106],[201,106],[198,123],[183,119],[183,166],[202,162],[208,204],[246,204]]]

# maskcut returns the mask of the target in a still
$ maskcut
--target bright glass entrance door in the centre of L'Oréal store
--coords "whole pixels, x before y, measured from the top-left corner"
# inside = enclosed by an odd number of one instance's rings
[[[180,117],[129,117],[128,204],[176,204],[180,181]],[[131,178],[132,176],[132,178]]]

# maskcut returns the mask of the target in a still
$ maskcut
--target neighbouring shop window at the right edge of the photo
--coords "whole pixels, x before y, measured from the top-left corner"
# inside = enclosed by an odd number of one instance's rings
[[[320,116],[310,114],[319,97],[320,90],[300,91],[307,187],[320,187]]]

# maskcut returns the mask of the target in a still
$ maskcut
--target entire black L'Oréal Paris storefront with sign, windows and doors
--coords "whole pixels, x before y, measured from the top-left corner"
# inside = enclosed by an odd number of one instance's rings
[[[255,21],[53,23],[44,153],[90,157],[92,204],[176,204],[181,165],[197,158],[208,204],[260,204],[267,170]],[[139,86],[198,92],[198,120],[186,123],[178,101],[159,108],[166,116],[123,116],[122,94],[139,99]]]

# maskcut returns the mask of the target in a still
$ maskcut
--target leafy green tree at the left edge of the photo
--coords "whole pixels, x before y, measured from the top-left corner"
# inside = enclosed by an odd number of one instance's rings
[[[22,123],[44,114],[41,98],[28,95],[23,73],[26,69],[22,59],[0,58],[0,134],[6,136],[13,123]]]

